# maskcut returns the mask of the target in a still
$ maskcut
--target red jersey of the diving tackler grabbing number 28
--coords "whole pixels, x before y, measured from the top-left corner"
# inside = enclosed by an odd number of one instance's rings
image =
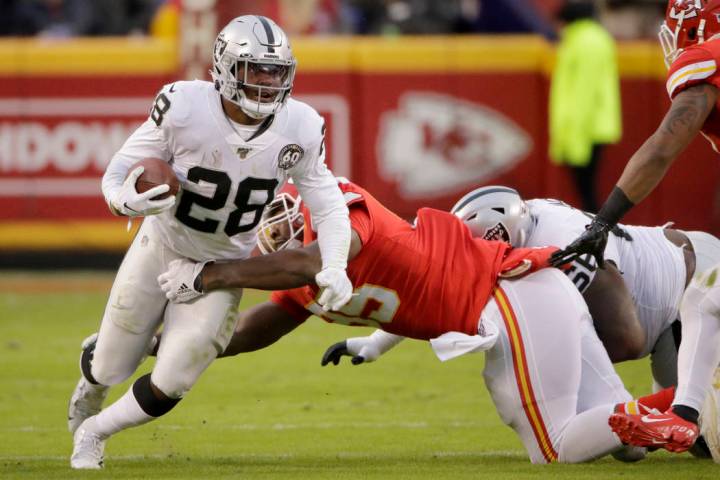
[[[477,334],[510,247],[473,239],[450,213],[423,208],[412,226],[357,185],[340,188],[363,244],[347,268],[355,288],[352,300],[340,311],[324,312],[314,286],[274,292],[271,300],[300,321],[315,314],[422,340],[449,331]],[[310,218],[307,210],[304,215]],[[315,239],[309,227],[306,223],[305,243]]]

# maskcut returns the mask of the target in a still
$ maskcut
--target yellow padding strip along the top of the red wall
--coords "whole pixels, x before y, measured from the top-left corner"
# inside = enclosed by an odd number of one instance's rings
[[[549,74],[553,45],[535,35],[298,37],[298,75],[333,73],[540,72]],[[178,43],[167,38],[0,40],[0,75],[180,75]],[[208,63],[210,51],[208,51]],[[665,78],[656,42],[618,44],[620,74]]]

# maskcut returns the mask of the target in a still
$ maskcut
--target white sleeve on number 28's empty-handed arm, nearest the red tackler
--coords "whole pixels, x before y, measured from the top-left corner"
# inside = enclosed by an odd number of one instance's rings
[[[312,156],[302,159],[289,173],[312,214],[323,269],[345,269],[350,251],[350,217],[345,198],[325,165],[322,143],[308,150]]]

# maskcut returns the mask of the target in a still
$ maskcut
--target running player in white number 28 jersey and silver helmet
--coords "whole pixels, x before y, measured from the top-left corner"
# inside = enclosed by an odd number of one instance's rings
[[[272,20],[235,18],[215,41],[213,82],[163,87],[147,121],[111,160],[102,181],[110,209],[146,218],[115,278],[94,352],[81,356],[68,412],[73,468],[101,468],[108,437],[170,411],[225,349],[242,290],[168,304],[157,277],[175,259],[202,265],[248,257],[263,210],[286,180],[316,219],[322,271],[315,281],[324,288],[318,302],[335,310],[350,299],[348,209],[325,165],[322,117],[290,98],[295,64]],[[142,169],[131,167],[145,158],[172,166],[182,184],[177,201],[153,199],[167,185],[136,191]],[[133,374],[161,323],[152,373],[101,411],[108,388]]]

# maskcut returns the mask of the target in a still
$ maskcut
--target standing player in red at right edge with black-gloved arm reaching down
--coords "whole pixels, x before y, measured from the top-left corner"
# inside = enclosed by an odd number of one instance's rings
[[[628,162],[617,185],[587,230],[554,262],[591,253],[602,265],[608,232],[642,201],[665,176],[685,147],[701,133],[720,152],[720,0],[670,0],[660,30],[669,66],[667,91],[672,105],[658,129]],[[613,430],[634,445],[663,446],[673,452],[690,448],[697,438],[698,417],[717,417],[720,382],[713,375],[720,362],[720,265],[688,287],[681,306],[682,342],[678,353],[678,388],[672,409],[657,415],[615,415]],[[708,389],[711,395],[706,396]],[[710,400],[705,402],[705,399]],[[720,462],[717,421],[704,431]]]

